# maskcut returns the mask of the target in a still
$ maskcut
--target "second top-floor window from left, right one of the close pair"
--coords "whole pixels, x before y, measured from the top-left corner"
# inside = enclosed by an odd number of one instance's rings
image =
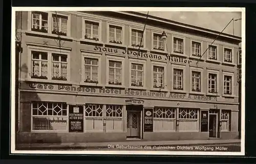
[[[52,14],[52,34],[67,36],[68,32],[68,16]]]

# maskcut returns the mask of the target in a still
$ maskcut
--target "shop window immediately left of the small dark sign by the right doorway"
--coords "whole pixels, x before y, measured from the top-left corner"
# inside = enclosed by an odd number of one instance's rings
[[[198,131],[198,109],[179,109],[179,131]]]

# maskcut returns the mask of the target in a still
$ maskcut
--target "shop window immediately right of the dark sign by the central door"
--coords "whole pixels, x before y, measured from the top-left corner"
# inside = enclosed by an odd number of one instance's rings
[[[176,108],[155,107],[153,111],[153,117],[154,132],[166,132],[175,130]]]

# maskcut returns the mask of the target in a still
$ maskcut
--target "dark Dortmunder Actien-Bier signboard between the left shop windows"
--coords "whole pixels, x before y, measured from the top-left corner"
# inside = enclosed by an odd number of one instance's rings
[[[83,106],[69,106],[69,132],[83,132]]]

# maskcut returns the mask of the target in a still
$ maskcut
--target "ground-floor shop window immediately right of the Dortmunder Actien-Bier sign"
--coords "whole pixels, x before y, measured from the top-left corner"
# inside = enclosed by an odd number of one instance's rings
[[[86,104],[85,117],[86,131],[103,131],[103,105]]]

